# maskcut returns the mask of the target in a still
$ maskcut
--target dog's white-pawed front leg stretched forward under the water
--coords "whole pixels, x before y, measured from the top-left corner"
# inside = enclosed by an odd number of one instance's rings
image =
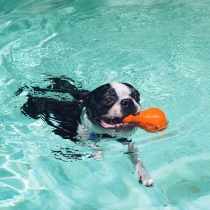
[[[136,151],[137,148],[134,147],[134,143],[128,145],[129,158],[132,161],[133,166],[138,174],[139,182],[147,187],[151,187],[154,185],[154,182],[147,170],[144,168],[144,165],[136,154]]]

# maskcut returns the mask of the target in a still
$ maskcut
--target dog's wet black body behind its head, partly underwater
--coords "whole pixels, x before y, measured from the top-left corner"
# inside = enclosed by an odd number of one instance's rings
[[[82,102],[88,97],[89,91],[77,88],[69,78],[48,80],[51,84],[46,88],[24,86],[15,93],[19,95],[23,90],[29,91],[27,102],[21,108],[22,113],[34,119],[41,118],[54,128],[55,134],[77,142]],[[56,95],[58,93],[59,96]]]

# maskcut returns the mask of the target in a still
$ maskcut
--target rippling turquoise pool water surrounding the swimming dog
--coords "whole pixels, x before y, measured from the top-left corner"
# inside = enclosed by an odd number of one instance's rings
[[[210,3],[206,0],[0,1],[0,209],[210,209]],[[159,107],[166,131],[132,139],[153,188],[137,182],[126,147],[93,152],[20,113],[24,84],[67,75],[92,90],[122,81]],[[64,152],[65,149],[64,149]]]

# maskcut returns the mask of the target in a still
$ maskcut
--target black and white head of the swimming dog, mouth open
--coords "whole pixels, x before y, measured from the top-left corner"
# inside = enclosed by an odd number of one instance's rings
[[[140,112],[140,94],[130,84],[111,82],[92,92],[84,101],[82,123],[96,133],[129,133],[135,124],[123,124],[127,115]]]

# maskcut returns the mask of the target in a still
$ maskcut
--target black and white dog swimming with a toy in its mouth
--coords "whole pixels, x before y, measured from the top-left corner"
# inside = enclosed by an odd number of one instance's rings
[[[54,128],[54,133],[75,143],[102,138],[115,138],[128,145],[128,156],[138,173],[139,182],[152,186],[153,180],[136,154],[137,149],[128,136],[135,131],[134,123],[122,123],[127,115],[140,110],[140,94],[130,84],[111,82],[93,91],[74,85],[70,78],[48,78],[46,88],[23,87],[29,91],[22,112],[34,119],[42,118]],[[94,145],[94,143],[92,144]],[[93,146],[94,147],[94,146]]]

